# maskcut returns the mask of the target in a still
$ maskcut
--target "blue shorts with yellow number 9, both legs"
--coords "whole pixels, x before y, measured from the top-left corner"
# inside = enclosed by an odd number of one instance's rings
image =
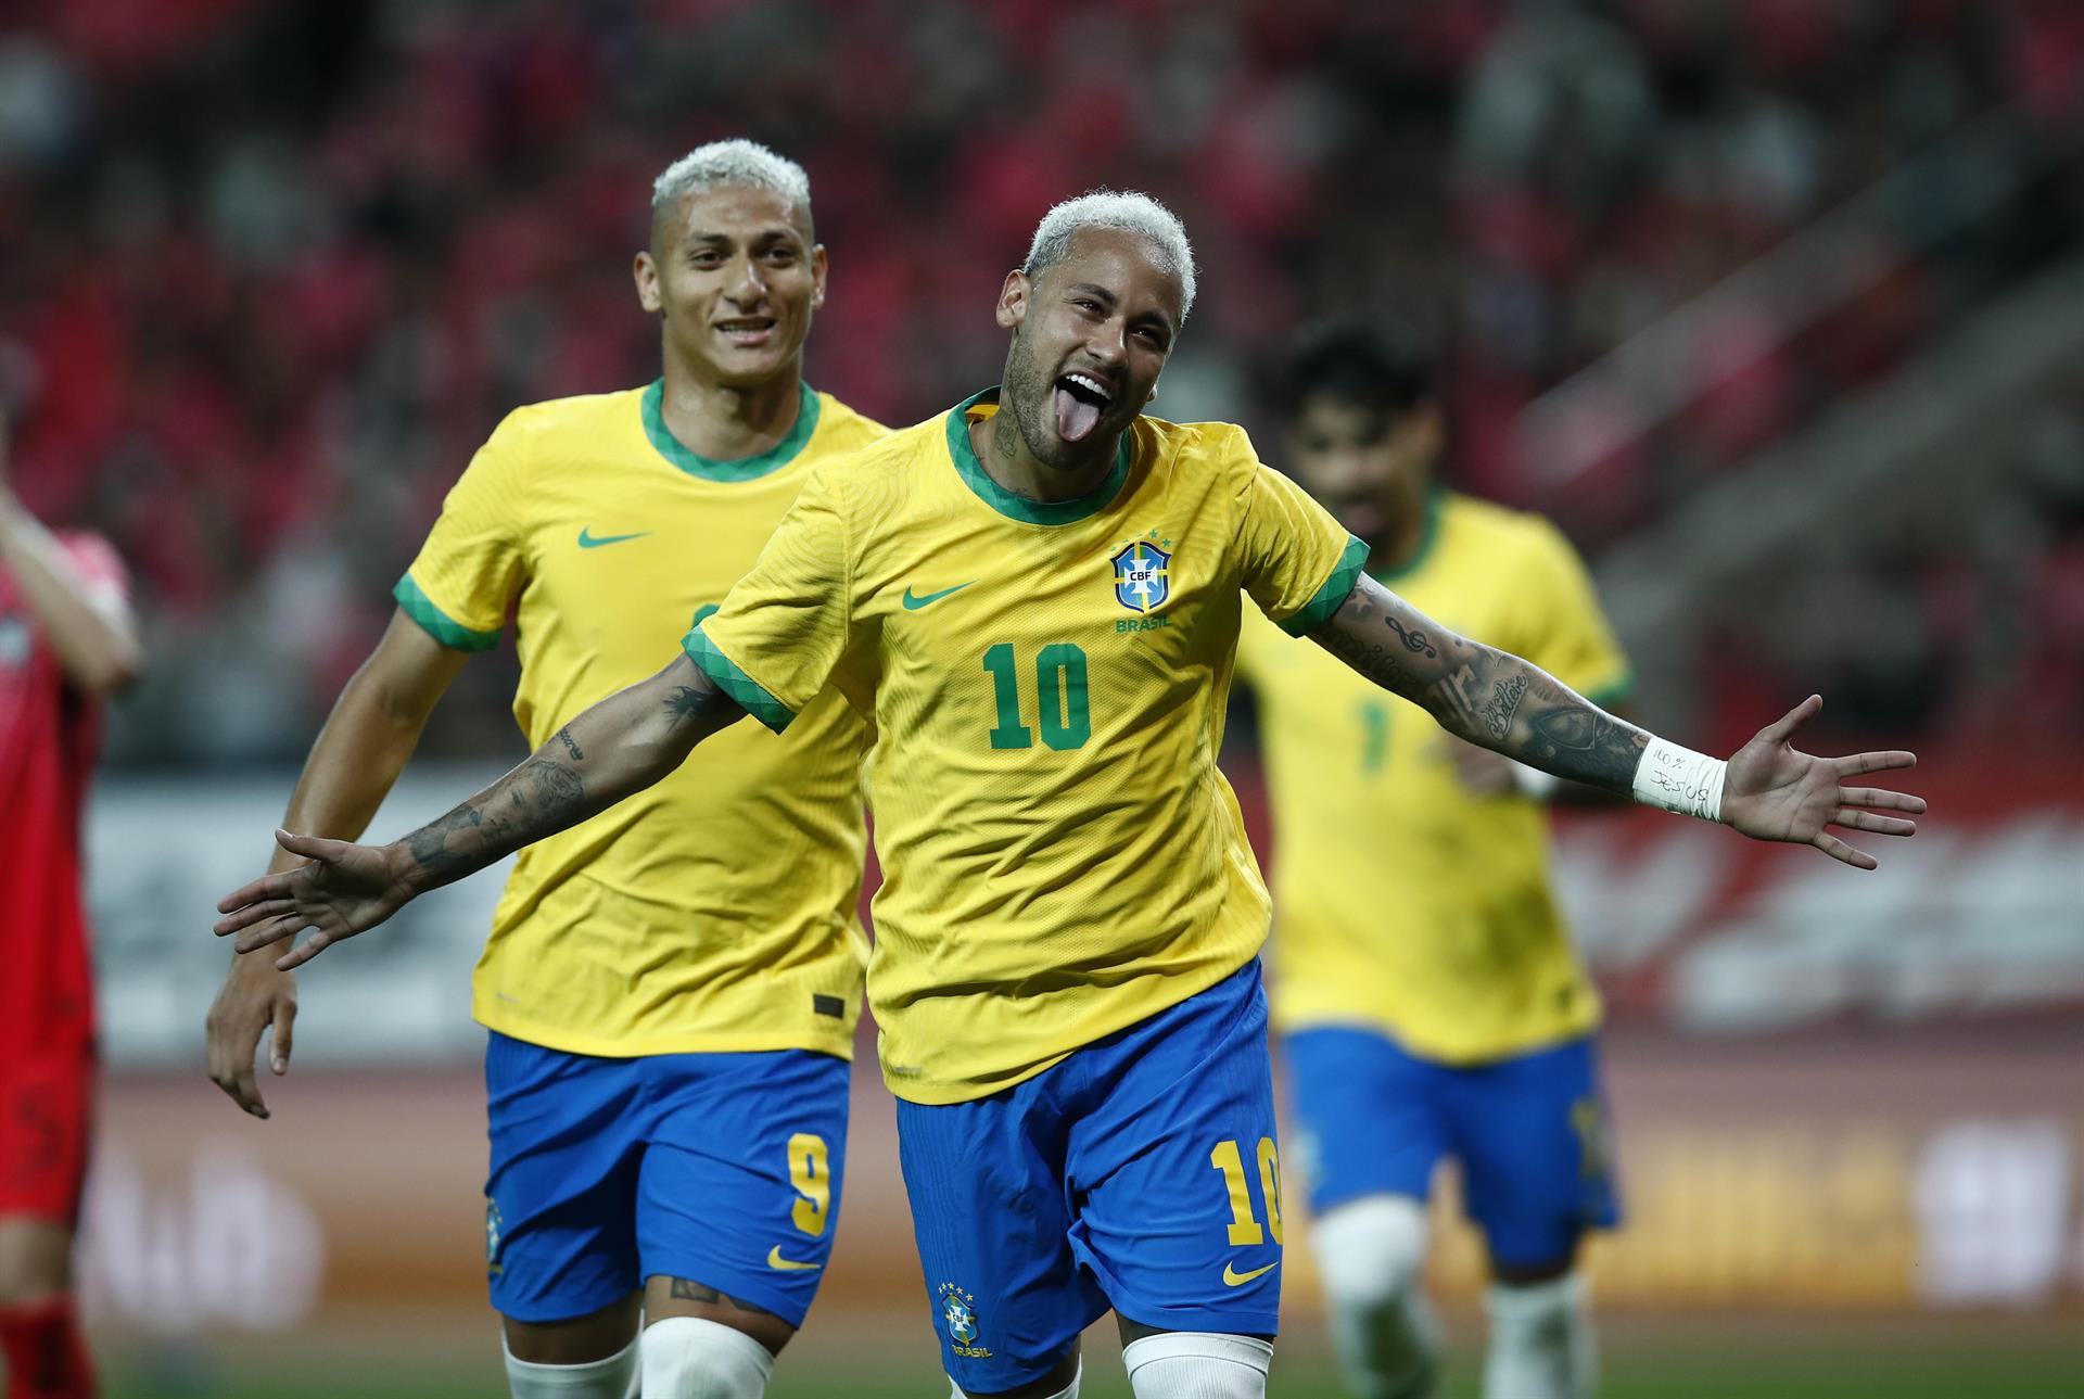
[[[804,1049],[600,1059],[494,1034],[492,1305],[561,1322],[669,1276],[802,1326],[840,1220],[850,1067]]]

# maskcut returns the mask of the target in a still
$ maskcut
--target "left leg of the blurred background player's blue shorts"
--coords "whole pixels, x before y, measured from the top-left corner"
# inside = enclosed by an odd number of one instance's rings
[[[1348,1026],[1298,1030],[1282,1040],[1282,1059],[1294,1163],[1315,1213],[1363,1195],[1430,1199],[1448,1140],[1432,1065],[1386,1034]]]

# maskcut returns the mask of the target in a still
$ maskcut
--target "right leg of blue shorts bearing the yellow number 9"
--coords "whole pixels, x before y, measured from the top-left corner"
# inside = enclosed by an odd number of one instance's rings
[[[638,1253],[652,1295],[663,1278],[671,1301],[677,1278],[679,1301],[723,1307],[715,1320],[736,1305],[802,1326],[840,1222],[850,1070],[807,1049],[650,1063]]]

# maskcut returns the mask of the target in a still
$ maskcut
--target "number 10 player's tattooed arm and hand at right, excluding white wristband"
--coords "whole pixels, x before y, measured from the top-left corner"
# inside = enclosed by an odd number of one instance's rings
[[[1559,778],[1634,796],[1648,732],[1538,665],[1457,636],[1365,573],[1311,640],[1384,690],[1423,707],[1459,738]],[[1911,767],[1917,757],[1886,751],[1828,759],[1796,751],[1794,732],[1821,707],[1824,701],[1811,694],[1730,759],[1719,819],[1757,840],[1813,844],[1832,859],[1874,869],[1871,855],[1828,828],[1909,836],[1917,832],[1913,821],[1878,813],[1915,815],[1926,803],[1907,792],[1842,786],[1842,780]]]

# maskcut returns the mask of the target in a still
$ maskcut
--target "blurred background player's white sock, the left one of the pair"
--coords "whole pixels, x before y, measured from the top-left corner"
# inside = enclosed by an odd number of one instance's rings
[[[1419,1286],[1425,1234],[1425,1205],[1409,1195],[1336,1205],[1311,1228],[1332,1349],[1357,1399],[1428,1399],[1440,1378],[1440,1322]]]

